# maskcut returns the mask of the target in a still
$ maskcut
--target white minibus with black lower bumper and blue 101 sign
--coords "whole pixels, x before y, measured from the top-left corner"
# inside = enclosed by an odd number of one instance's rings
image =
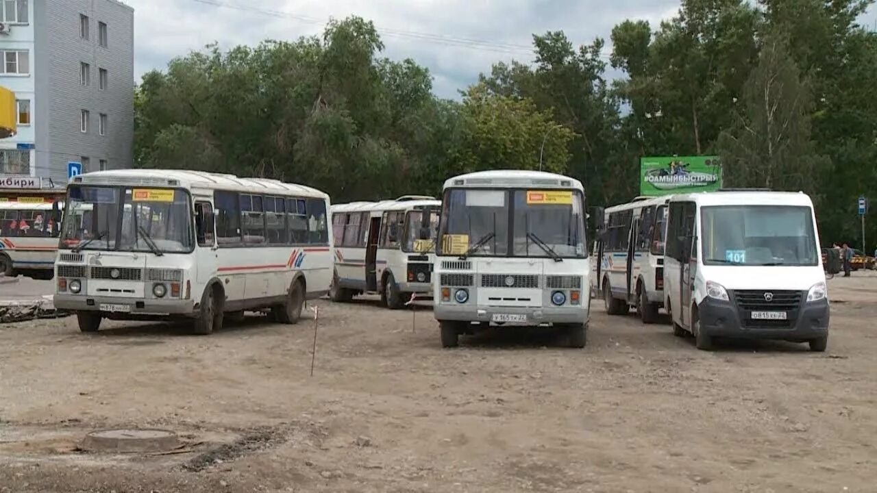
[[[809,196],[718,191],[674,196],[665,305],[674,334],[808,342],[824,351],[829,303]]]

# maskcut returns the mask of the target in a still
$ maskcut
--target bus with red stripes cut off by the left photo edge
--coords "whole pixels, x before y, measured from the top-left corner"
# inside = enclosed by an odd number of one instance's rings
[[[51,279],[54,274],[64,189],[44,182],[49,181],[31,176],[0,179],[0,275]]]

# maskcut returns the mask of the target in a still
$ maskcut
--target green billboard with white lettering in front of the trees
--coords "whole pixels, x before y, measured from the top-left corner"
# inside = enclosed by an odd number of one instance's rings
[[[717,156],[647,157],[639,160],[639,195],[709,192],[722,187]]]

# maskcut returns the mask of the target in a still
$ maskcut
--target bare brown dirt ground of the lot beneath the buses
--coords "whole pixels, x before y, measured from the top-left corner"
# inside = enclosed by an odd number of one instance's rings
[[[824,354],[699,352],[595,303],[583,350],[494,332],[444,350],[431,311],[312,320],[0,325],[0,491],[784,492],[877,489],[877,277],[830,282]],[[77,450],[152,427],[174,454]]]

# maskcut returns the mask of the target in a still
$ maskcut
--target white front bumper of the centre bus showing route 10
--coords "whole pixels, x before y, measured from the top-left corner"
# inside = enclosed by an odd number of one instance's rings
[[[507,325],[584,324],[588,322],[587,306],[566,307],[507,307],[476,306],[466,304],[436,303],[433,311],[437,320],[490,323],[498,315],[524,315],[526,322],[510,322]]]

